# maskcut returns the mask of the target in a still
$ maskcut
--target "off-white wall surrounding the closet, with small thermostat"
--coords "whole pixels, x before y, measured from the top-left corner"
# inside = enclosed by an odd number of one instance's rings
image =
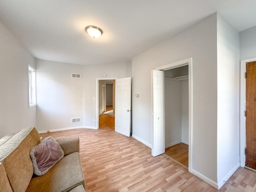
[[[158,66],[192,57],[192,171],[217,182],[217,14],[132,59],[133,136],[151,145],[151,76]],[[209,166],[210,165],[210,166]]]

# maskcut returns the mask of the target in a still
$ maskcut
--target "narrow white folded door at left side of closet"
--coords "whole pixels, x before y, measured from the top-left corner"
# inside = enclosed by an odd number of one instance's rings
[[[152,78],[152,156],[165,152],[164,72],[151,71]]]

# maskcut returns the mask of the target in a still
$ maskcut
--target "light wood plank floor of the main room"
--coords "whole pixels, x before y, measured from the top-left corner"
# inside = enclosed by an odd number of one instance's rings
[[[170,158],[113,128],[76,129],[40,134],[43,138],[79,136],[87,192],[217,192]],[[220,192],[255,192],[256,173],[238,168]]]

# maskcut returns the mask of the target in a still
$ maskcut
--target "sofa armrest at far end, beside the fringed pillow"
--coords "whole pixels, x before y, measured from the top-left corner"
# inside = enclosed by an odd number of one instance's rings
[[[79,152],[79,137],[56,139],[56,141],[60,144],[62,150],[64,151],[64,156],[74,152]]]

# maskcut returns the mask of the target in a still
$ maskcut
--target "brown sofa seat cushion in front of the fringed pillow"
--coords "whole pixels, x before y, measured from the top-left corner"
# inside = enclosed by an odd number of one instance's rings
[[[31,179],[27,192],[68,192],[76,186],[85,188],[80,156],[74,152],[64,156],[43,176]]]

